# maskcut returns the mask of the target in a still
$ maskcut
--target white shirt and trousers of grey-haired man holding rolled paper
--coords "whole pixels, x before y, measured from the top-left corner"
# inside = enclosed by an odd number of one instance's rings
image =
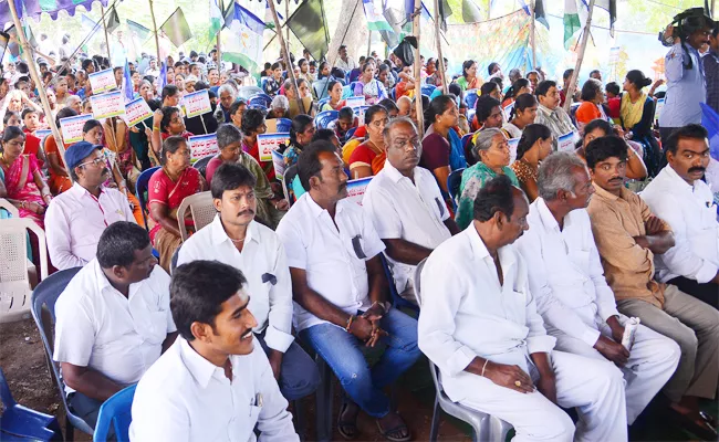
[[[558,339],[556,348],[606,361],[593,347],[600,335],[612,338],[606,324],[609,317],[617,316],[622,324],[627,318],[617,312],[614,293],[604,278],[586,210],[570,212],[560,229],[544,200],[538,198],[527,221],[530,229],[517,245],[529,263],[530,287],[548,332]],[[622,369],[629,424],[674,375],[679,356],[675,341],[639,326]]]

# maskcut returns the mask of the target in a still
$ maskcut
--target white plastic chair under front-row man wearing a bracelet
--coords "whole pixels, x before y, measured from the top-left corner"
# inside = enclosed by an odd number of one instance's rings
[[[413,282],[415,284],[415,297],[417,298],[417,305],[420,307],[421,314],[421,287],[419,282],[419,276],[421,275],[421,270],[425,266],[423,260],[413,275]],[[437,441],[437,434],[439,432],[439,408],[441,408],[447,414],[452,415],[461,421],[469,423],[472,427],[475,433],[472,434],[473,441],[506,441],[507,433],[512,429],[512,425],[504,422],[499,418],[494,418],[481,411],[473,410],[469,407],[465,407],[461,403],[454,402],[445,393],[445,389],[441,386],[441,381],[438,375],[438,368],[429,360],[429,371],[431,372],[431,380],[435,382],[435,389],[437,390],[437,396],[435,397],[435,407],[433,410],[431,418],[431,428],[429,430],[429,440],[431,442]]]

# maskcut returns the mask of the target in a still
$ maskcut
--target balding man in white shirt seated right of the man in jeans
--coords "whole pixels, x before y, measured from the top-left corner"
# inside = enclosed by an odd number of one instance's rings
[[[367,186],[362,207],[385,243],[397,292],[416,302],[411,275],[419,262],[459,233],[435,176],[419,164],[419,135],[409,118],[390,120],[384,130],[387,160]]]

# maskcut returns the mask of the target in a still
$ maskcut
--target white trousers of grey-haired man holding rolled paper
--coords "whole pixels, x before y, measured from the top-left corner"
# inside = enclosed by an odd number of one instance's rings
[[[626,317],[622,316],[621,323],[624,324],[625,320]],[[612,330],[606,324],[600,327],[600,333],[612,338]],[[556,337],[554,348],[558,350],[607,361],[601,352],[581,339],[555,330],[552,330],[552,336]],[[677,343],[639,325],[627,365],[622,369],[612,365],[616,370],[622,371],[626,381],[626,415],[629,425],[671,378],[680,356],[681,349]]]

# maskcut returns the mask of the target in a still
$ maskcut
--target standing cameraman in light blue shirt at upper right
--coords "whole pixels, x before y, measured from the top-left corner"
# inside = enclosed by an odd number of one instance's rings
[[[691,12],[694,13],[691,13]],[[674,35],[674,45],[665,57],[667,77],[666,102],[659,115],[659,134],[663,143],[679,127],[701,124],[700,103],[707,101],[705,72],[699,49],[709,44],[715,22],[701,8],[685,11],[677,29],[670,24],[665,35]],[[695,12],[696,11],[696,12]]]

